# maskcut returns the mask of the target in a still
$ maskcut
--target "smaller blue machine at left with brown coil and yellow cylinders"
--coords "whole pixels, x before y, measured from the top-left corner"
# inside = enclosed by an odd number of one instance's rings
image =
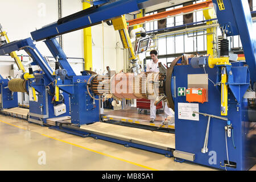
[[[30,97],[28,121],[39,123],[43,126],[48,118],[68,116],[68,94],[60,93],[59,90],[55,88],[53,71],[35,47],[31,38],[3,44],[0,47],[0,55],[12,53],[20,49],[24,49],[24,51],[30,55],[33,60],[31,65],[39,65],[42,69],[42,71],[32,71],[32,68],[29,68],[29,73],[24,73],[22,78],[10,80],[7,85],[11,92],[28,93]],[[56,70],[56,72],[57,71],[58,70]]]

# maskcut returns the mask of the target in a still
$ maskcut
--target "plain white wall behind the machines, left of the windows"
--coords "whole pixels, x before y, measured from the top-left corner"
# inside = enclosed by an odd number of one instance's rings
[[[1,0],[0,23],[7,32],[10,41],[31,37],[30,32],[47,24],[56,22],[58,19],[57,0],[24,0],[3,1]],[[81,0],[63,0],[63,17],[82,10]],[[104,33],[103,33],[104,32]],[[113,26],[104,23],[92,27],[93,38],[93,71],[106,69],[123,69],[125,55],[122,43],[117,31]],[[104,41],[103,41],[104,40]],[[118,43],[117,43],[118,42]],[[35,42],[36,47],[44,56],[52,56],[43,41]],[[63,35],[63,49],[67,57],[84,57],[84,44],[82,30]],[[117,48],[116,48],[117,46]],[[27,55],[24,51],[18,51],[18,55]],[[24,57],[28,60],[28,57]],[[51,59],[53,60],[53,59]],[[69,59],[72,68],[77,73],[84,69],[82,59]],[[74,63],[75,62],[75,63]],[[10,65],[15,64],[9,56],[0,56],[0,74],[10,75]]]

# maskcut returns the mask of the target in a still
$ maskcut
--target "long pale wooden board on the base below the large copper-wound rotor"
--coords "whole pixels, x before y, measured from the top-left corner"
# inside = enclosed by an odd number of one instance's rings
[[[157,147],[164,150],[167,150],[168,148],[175,149],[175,134],[171,133],[143,130],[103,122],[96,122],[92,125],[82,125],[80,129],[85,130],[88,133],[126,141],[131,140],[133,143],[144,144],[146,146]]]

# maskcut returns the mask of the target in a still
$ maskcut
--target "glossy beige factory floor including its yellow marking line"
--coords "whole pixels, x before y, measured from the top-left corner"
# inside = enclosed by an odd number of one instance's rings
[[[5,115],[0,138],[0,170],[216,170]]]

